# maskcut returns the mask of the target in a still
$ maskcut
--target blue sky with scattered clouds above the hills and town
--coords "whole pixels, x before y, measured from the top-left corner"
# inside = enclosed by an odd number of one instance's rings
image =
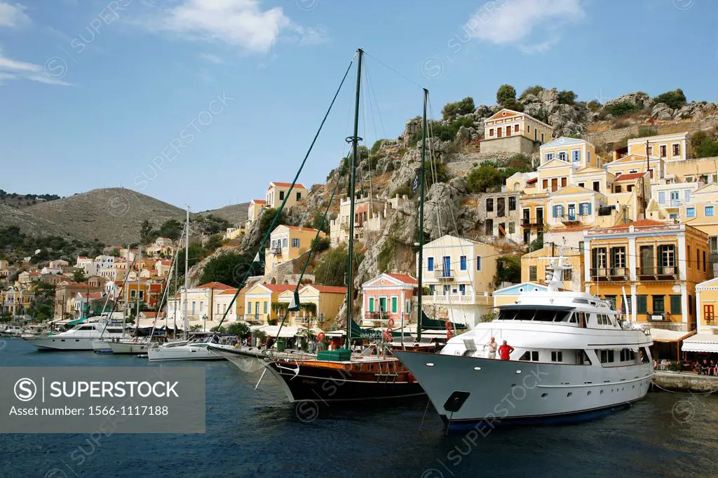
[[[0,0],[0,188],[122,185],[200,211],[291,181],[357,47],[360,136],[499,85],[718,100],[712,0]],[[347,151],[354,75],[300,180]],[[154,161],[154,162],[153,162]],[[158,166],[159,165],[159,166]]]

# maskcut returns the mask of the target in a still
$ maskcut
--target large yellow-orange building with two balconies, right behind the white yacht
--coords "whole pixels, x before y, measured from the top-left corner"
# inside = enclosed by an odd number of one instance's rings
[[[586,291],[614,300],[625,291],[632,317],[652,327],[694,329],[707,258],[708,236],[690,225],[640,220],[584,231]]]

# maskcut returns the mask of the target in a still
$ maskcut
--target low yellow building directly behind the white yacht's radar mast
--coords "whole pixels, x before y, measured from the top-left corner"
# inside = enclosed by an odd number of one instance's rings
[[[546,245],[544,248],[534,250],[521,256],[521,281],[546,283],[546,274],[553,273],[556,261],[561,256],[559,247]],[[564,250],[564,266],[571,266],[564,269],[564,283],[562,289],[567,291],[584,290],[583,270],[584,255],[579,250]]]

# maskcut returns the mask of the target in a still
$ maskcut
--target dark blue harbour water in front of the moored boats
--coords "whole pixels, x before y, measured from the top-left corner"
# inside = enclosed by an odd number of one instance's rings
[[[35,352],[20,339],[3,347],[0,367],[157,366]],[[96,444],[87,434],[2,435],[0,477],[718,476],[716,395],[649,393],[587,423],[445,436],[425,400],[314,416],[297,413],[269,376],[254,390],[259,373],[229,362],[162,364],[176,366],[205,367],[205,434],[115,434]]]

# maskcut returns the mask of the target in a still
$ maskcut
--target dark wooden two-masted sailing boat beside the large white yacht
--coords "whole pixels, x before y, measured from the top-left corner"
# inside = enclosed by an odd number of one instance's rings
[[[354,230],[355,213],[355,187],[356,167],[358,163],[358,136],[359,128],[359,105],[361,88],[361,67],[363,50],[358,50],[356,97],[354,111],[353,136],[348,138],[353,145],[353,154],[350,165],[350,213],[349,230]],[[426,154],[426,100],[428,90],[424,89],[424,139],[421,148],[421,197],[419,202],[420,230],[419,242],[423,245],[423,217],[424,217],[424,161]],[[348,291],[347,291],[347,329],[345,347],[348,347],[352,337],[358,336],[357,326],[353,321],[353,263],[354,234],[350,233],[348,238]],[[421,248],[419,249],[421,250]],[[420,253],[421,257],[421,253]],[[421,274],[421,268],[419,268]],[[421,275],[419,276],[419,291],[421,291]],[[421,304],[421,292],[419,293],[419,304]],[[421,309],[419,309],[420,311]],[[421,313],[419,312],[419,322]],[[353,327],[354,325],[354,327]],[[421,324],[419,323],[419,330]],[[307,357],[301,354],[299,357],[292,357],[289,354],[277,354],[274,357],[258,355],[256,352],[247,352],[232,347],[216,347],[210,345],[210,349],[223,355],[234,362],[238,367],[243,368],[247,356],[263,357],[267,360],[266,367],[272,375],[278,378],[283,385],[284,391],[290,402],[302,402],[317,400],[322,403],[337,402],[362,402],[374,400],[389,400],[409,398],[424,395],[421,385],[414,380],[409,370],[391,355],[391,346],[380,343],[372,345],[360,355],[352,356],[348,348],[319,352],[315,357]],[[263,373],[264,376],[264,373]]]

